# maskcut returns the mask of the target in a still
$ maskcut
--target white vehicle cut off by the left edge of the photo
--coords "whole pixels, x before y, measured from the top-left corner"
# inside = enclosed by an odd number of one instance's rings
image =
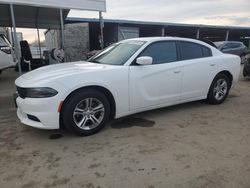
[[[3,34],[0,34],[0,73],[2,70],[16,65],[11,44]]]

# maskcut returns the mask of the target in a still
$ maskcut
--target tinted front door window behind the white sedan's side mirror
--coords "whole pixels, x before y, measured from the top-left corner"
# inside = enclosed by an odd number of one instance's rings
[[[141,54],[153,58],[153,64],[177,61],[177,49],[174,41],[156,42],[149,45]]]

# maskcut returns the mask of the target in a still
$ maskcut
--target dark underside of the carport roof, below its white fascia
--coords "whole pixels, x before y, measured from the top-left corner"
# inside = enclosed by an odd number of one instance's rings
[[[13,5],[16,27],[60,29],[60,10],[55,8]],[[69,10],[63,10],[64,19]],[[9,5],[0,4],[0,26],[12,27]]]

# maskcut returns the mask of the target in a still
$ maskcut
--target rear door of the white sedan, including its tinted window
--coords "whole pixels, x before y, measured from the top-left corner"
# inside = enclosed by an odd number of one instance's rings
[[[183,81],[181,100],[191,100],[207,95],[217,61],[212,57],[211,50],[197,43],[178,42],[183,63]]]

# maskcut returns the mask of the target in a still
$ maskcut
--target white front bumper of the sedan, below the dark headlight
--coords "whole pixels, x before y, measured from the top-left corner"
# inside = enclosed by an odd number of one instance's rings
[[[59,129],[59,113],[57,108],[60,101],[56,97],[33,99],[16,98],[17,116],[21,123],[39,129]],[[36,117],[37,120],[34,120]]]

